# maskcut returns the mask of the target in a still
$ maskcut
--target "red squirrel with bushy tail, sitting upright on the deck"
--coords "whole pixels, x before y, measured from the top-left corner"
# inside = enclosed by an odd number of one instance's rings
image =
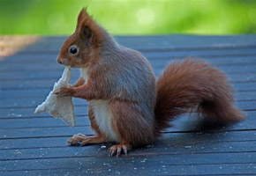
[[[186,59],[169,63],[156,80],[147,59],[119,45],[86,9],[79,12],[75,33],[64,41],[57,62],[80,68],[77,83],[55,93],[87,99],[96,134],[74,135],[68,140],[71,144],[115,142],[109,155],[127,154],[129,149],[153,143],[169,121],[193,108],[222,123],[244,120],[221,70]]]

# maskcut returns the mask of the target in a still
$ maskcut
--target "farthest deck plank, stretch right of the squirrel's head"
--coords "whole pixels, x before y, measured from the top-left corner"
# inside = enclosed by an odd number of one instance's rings
[[[255,46],[255,35],[162,35],[162,36],[117,36],[117,41],[130,48],[236,48]]]

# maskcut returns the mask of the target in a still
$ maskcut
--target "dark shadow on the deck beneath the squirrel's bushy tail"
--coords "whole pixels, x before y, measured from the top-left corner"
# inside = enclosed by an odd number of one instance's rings
[[[174,126],[163,132],[153,145],[139,148],[139,152],[195,153],[222,147],[229,133],[227,125],[207,118],[174,121]],[[177,125],[177,126],[175,126]],[[174,130],[173,130],[174,129]],[[133,151],[137,153],[137,150]]]

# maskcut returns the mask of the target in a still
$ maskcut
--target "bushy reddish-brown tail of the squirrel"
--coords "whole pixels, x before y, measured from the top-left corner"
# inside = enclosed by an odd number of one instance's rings
[[[224,73],[207,62],[170,63],[157,80],[156,131],[168,128],[169,121],[190,109],[222,123],[242,121],[244,114],[234,106],[233,93]]]

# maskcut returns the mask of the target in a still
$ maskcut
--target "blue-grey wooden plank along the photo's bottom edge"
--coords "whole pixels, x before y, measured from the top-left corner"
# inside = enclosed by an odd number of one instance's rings
[[[103,164],[104,165],[104,164]],[[15,175],[171,175],[171,176],[223,176],[223,175],[255,175],[254,164],[222,164],[222,165],[128,165],[123,164],[118,168],[99,167],[97,169],[81,168],[76,169],[44,169],[44,170],[24,170],[14,172],[2,172],[3,176]],[[116,165],[115,165],[116,166]],[[206,170],[207,168],[207,170]],[[1,173],[1,172],[0,172]]]

